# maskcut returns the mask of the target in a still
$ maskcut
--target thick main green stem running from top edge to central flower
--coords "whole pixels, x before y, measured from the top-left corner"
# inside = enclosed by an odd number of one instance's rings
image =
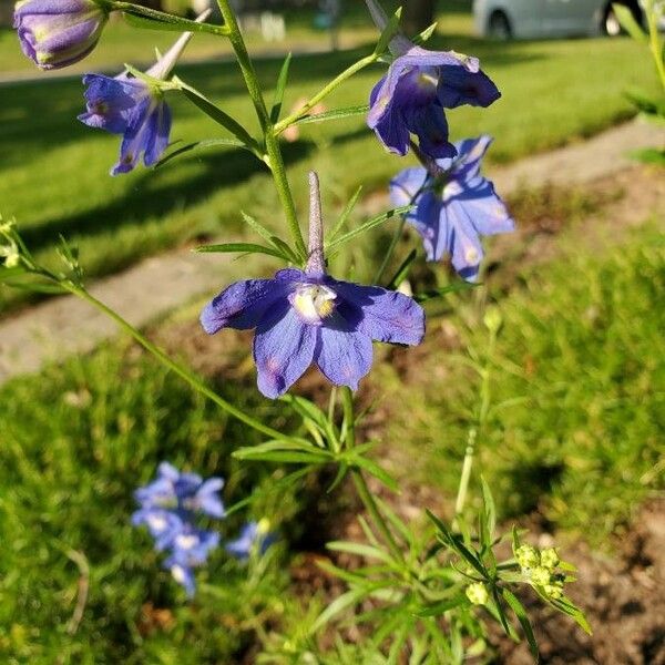
[[[254,69],[254,64],[252,63],[252,59],[247,52],[247,47],[245,45],[245,40],[238,27],[235,13],[231,8],[228,0],[217,0],[217,4],[222,11],[224,23],[228,28],[228,39],[236,58],[238,59],[238,64],[241,65],[241,71],[243,72],[247,91],[252,98],[252,103],[256,110],[256,115],[258,116],[258,122],[264,134],[267,152],[267,160],[264,161],[273,173],[273,180],[275,181],[277,195],[279,196],[279,202],[284,207],[288,229],[296,245],[296,249],[303,260],[306,260],[307,248],[305,247],[303,232],[300,231],[300,225],[298,224],[296,204],[288,184],[288,178],[286,177],[286,166],[284,165],[282,147],[277,137],[278,133],[274,131],[270,123],[270,115],[268,114],[266,102],[260,90],[258,76],[256,75],[256,70]]]

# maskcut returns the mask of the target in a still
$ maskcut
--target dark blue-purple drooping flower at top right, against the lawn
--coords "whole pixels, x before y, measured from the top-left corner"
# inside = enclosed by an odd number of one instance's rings
[[[367,0],[379,29],[387,25],[381,7]],[[480,70],[477,58],[454,51],[427,51],[397,35],[390,50],[396,55],[388,74],[370,94],[367,124],[392,153],[406,155],[411,134],[420,151],[432,160],[453,157],[444,109],[462,104],[489,106],[500,92]]]

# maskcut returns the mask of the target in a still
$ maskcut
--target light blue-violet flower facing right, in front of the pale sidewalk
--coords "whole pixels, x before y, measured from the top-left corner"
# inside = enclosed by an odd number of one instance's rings
[[[469,282],[478,277],[483,257],[481,235],[514,231],[515,224],[492,183],[480,175],[490,136],[456,144],[456,158],[438,160],[436,174],[406,168],[390,183],[395,205],[415,203],[407,215],[420,236],[427,258],[451,256],[454,269]]]

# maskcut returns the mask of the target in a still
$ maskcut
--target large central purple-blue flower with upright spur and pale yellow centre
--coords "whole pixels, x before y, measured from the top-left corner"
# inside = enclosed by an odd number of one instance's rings
[[[310,177],[318,193],[316,174]],[[313,362],[336,386],[356,390],[371,367],[372,340],[413,346],[424,335],[422,308],[408,296],[326,275],[320,225],[319,207],[311,215],[305,270],[287,268],[273,279],[236,282],[201,315],[209,335],[256,328],[258,389],[273,399]]]

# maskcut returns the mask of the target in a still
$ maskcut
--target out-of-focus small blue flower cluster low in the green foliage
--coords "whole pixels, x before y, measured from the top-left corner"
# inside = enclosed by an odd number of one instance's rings
[[[132,515],[136,526],[145,525],[158,552],[167,552],[164,567],[182,584],[191,597],[196,591],[194,569],[203,565],[221,542],[219,534],[196,525],[197,515],[225,516],[219,491],[221,478],[203,480],[196,473],[182,473],[168,462],[162,462],[157,478],[134,493],[140,504]],[[248,559],[254,549],[262,553],[274,541],[264,524],[245,524],[241,536],[226,543],[226,551],[239,560]]]

